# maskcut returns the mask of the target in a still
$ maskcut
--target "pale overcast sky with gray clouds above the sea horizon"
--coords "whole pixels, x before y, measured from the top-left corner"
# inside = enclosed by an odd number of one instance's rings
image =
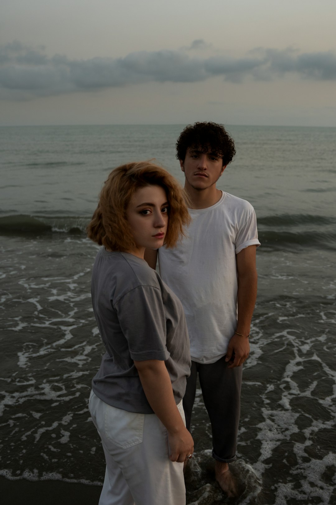
[[[0,126],[336,126],[334,0],[2,0]]]

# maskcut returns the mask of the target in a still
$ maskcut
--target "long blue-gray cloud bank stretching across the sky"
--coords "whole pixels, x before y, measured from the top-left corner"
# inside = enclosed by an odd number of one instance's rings
[[[205,45],[203,40],[195,40],[190,48]],[[139,51],[124,58],[70,60],[60,55],[47,57],[43,47],[31,48],[18,41],[0,46],[0,97],[8,99],[146,82],[198,82],[214,76],[237,83],[246,78],[275,80],[289,74],[311,80],[336,80],[336,54],[258,48],[245,58],[201,58],[190,57],[181,49]]]

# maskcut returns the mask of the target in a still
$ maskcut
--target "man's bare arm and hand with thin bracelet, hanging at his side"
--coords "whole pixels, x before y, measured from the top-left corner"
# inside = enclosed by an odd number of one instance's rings
[[[230,361],[234,352],[234,361],[229,368],[242,365],[247,360],[250,344],[247,335],[250,332],[252,314],[257,294],[257,272],[255,267],[256,246],[242,249],[236,256],[238,272],[238,323],[236,333],[229,342],[226,361]]]

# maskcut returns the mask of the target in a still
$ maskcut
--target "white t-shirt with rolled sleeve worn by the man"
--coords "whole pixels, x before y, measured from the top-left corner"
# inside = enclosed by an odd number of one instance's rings
[[[183,241],[158,250],[160,275],[182,302],[191,359],[215,363],[236,330],[236,254],[260,245],[256,218],[248,201],[224,191],[217,204],[189,213]]]

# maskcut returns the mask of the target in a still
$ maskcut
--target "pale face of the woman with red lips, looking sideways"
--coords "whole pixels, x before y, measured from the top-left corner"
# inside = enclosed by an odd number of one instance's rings
[[[131,198],[127,210],[127,221],[136,249],[127,251],[144,258],[145,249],[158,249],[163,245],[168,225],[168,201],[161,186],[145,186]]]

